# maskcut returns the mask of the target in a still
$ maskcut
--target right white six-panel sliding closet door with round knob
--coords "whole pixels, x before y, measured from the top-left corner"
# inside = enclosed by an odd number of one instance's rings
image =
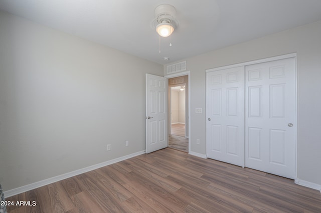
[[[245,66],[246,167],[295,178],[295,58]]]

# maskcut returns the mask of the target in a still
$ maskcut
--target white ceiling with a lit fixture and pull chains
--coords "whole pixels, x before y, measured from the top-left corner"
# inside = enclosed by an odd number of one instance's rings
[[[163,3],[179,26],[159,53],[151,22]],[[0,0],[0,10],[161,64],[321,20],[321,0]]]

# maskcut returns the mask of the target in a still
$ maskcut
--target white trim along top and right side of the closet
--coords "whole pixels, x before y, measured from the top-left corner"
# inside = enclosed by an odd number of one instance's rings
[[[289,53],[289,54],[284,54],[284,55],[278,55],[278,56],[274,56],[274,57],[267,57],[267,58],[258,59],[258,60],[242,62],[242,63],[236,63],[236,64],[232,64],[232,65],[227,65],[227,66],[220,66],[220,67],[216,67],[216,68],[210,68],[210,69],[206,69],[205,72],[216,71],[216,70],[227,69],[227,68],[238,67],[238,66],[252,65],[252,64],[256,64],[256,63],[262,63],[262,62],[268,62],[268,61],[273,61],[273,60],[285,59],[285,58],[289,58],[289,57],[294,57],[295,58],[295,76],[297,76],[296,52]],[[295,126],[295,179],[294,179],[294,182],[298,182],[298,178],[297,178],[297,126],[298,126],[298,122],[297,122],[297,77],[295,77],[295,121],[296,121],[296,126]]]

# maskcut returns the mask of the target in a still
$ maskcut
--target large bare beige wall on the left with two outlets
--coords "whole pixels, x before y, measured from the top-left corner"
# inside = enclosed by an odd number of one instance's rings
[[[0,12],[4,190],[145,150],[145,73],[163,66]]]

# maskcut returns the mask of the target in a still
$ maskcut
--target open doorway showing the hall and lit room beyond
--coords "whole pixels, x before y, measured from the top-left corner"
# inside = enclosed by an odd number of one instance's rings
[[[169,148],[189,152],[188,75],[169,78]]]

